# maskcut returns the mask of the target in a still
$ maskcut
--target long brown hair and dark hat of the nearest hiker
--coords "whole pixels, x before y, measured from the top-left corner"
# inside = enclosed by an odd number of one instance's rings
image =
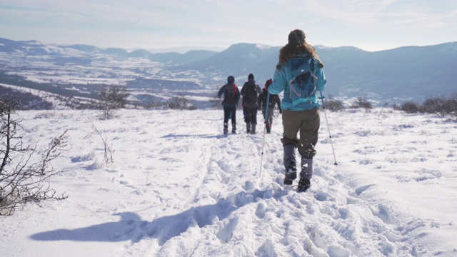
[[[316,53],[313,46],[306,43],[306,35],[301,29],[295,29],[288,34],[288,43],[279,50],[279,62],[276,69],[280,70],[283,64],[293,57],[306,53],[318,61],[319,68],[323,68],[323,63]]]

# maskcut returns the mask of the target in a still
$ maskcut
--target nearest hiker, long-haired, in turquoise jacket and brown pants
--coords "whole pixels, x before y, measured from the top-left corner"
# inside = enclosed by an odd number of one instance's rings
[[[312,57],[310,67],[312,74],[317,79],[316,90],[309,96],[308,101],[293,104],[291,85],[293,58]],[[316,91],[323,91],[326,86],[326,77],[323,74],[323,64],[316,54],[316,50],[306,43],[305,33],[296,29],[288,34],[288,43],[279,51],[279,61],[273,76],[273,84],[268,86],[270,94],[279,94],[284,91],[281,102],[283,118],[283,163],[286,168],[284,185],[291,185],[297,177],[295,148],[301,155],[300,180],[298,181],[298,192],[303,192],[311,187],[311,176],[313,176],[313,156],[316,155],[316,143],[318,141],[318,129],[320,117]],[[297,133],[300,132],[300,137]]]

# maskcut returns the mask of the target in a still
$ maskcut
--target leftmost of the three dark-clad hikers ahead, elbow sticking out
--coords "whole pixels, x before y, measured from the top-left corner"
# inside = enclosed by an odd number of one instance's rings
[[[229,133],[229,119],[231,119],[231,133],[236,133],[236,106],[240,100],[240,91],[235,84],[235,77],[229,76],[227,78],[227,84],[219,89],[217,96],[221,98],[224,94],[224,135]]]

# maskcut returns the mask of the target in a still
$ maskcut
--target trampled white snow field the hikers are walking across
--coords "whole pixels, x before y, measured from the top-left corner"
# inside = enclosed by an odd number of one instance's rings
[[[310,191],[283,185],[271,134],[222,136],[221,110],[19,111],[26,143],[68,130],[64,201],[0,218],[0,256],[457,256],[457,123],[321,112]],[[258,120],[261,120],[260,114]],[[106,164],[104,144],[114,150]],[[261,163],[262,159],[262,163]]]

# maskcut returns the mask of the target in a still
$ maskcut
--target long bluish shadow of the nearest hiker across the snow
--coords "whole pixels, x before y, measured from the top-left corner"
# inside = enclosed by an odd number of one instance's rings
[[[175,236],[184,233],[193,226],[211,225],[216,221],[222,221],[233,211],[255,203],[256,198],[268,198],[271,192],[255,190],[252,193],[241,191],[227,198],[221,198],[215,204],[197,206],[172,216],[163,216],[154,221],[143,221],[141,217],[133,212],[116,213],[121,216],[121,221],[107,222],[74,229],[56,229],[31,235],[30,238],[36,241],[94,241],[94,242],[139,242],[142,238],[156,238],[159,246]],[[234,227],[229,221],[216,236],[221,241],[228,241]]]

